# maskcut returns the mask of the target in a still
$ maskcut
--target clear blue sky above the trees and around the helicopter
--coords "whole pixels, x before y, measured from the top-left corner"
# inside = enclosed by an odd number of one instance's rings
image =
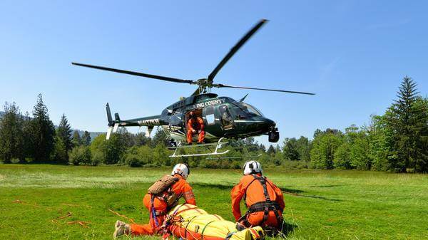
[[[428,92],[427,1],[1,1],[0,103],[31,113],[42,93],[51,119],[106,130],[156,115],[194,86],[71,66],[71,61],[177,78],[206,77],[258,20],[260,31],[218,83],[315,96],[220,89],[275,120],[283,137],[344,129],[382,114],[404,75]],[[266,143],[266,137],[258,138]]]

